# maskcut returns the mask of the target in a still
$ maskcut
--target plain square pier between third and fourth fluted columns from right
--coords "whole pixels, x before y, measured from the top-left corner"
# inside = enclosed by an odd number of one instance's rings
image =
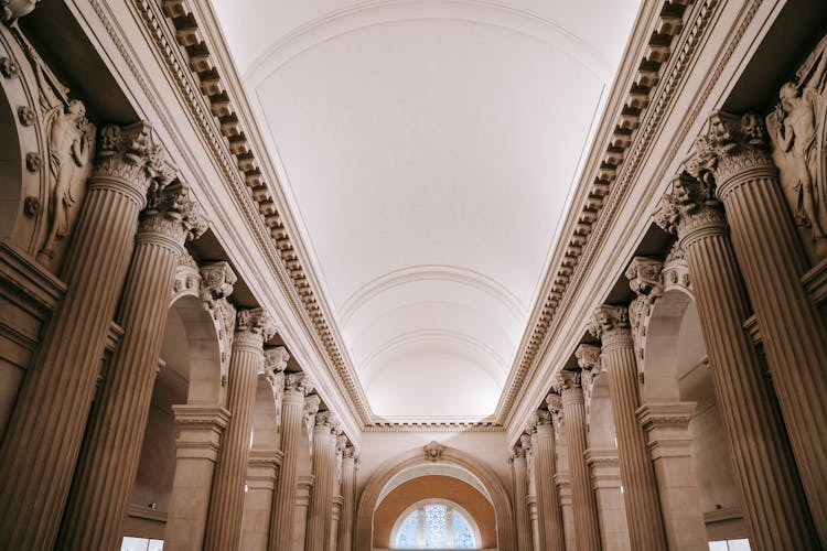
[[[586,463],[591,472],[594,500],[598,503],[603,551],[630,551],[617,450],[589,449],[586,451]]]

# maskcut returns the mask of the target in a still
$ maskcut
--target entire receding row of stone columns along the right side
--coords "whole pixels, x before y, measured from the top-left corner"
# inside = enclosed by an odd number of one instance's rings
[[[809,264],[777,174],[756,116],[713,112],[653,218],[675,236],[669,256],[679,255],[688,271],[752,549],[823,549],[827,407],[819,397],[827,391],[827,332],[802,282]],[[634,258],[626,271],[631,302],[594,310],[588,328],[599,343],[577,348],[577,367],[567,361],[559,370],[526,428],[533,473],[524,466],[525,437],[512,447],[520,550],[561,549],[544,525],[566,531],[566,484],[573,523],[565,540],[577,541],[577,549],[707,549],[697,483],[687,475],[694,403],[647,400],[636,349],[651,329],[646,316],[663,291],[663,272],[662,257]],[[753,313],[759,338],[745,328]],[[656,369],[646,364],[647,374]],[[599,378],[608,378],[616,450],[589,449],[586,439],[583,402],[588,407]],[[549,414],[562,431],[558,442],[540,447],[535,434]],[[561,453],[565,469],[548,472]],[[620,479],[606,484],[600,465],[613,455]],[[551,480],[557,491],[540,489]],[[534,534],[524,505],[530,486],[537,487],[537,510],[549,511]],[[616,497],[617,486],[623,507],[612,509],[606,488]],[[619,511],[625,547],[616,533],[606,534],[604,517]],[[531,543],[537,538],[539,545]]]

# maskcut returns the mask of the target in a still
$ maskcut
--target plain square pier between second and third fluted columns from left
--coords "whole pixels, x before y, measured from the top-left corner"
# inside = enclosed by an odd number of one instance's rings
[[[179,436],[170,512],[163,548],[201,551],[204,547],[213,474],[229,411],[221,406],[173,406]]]

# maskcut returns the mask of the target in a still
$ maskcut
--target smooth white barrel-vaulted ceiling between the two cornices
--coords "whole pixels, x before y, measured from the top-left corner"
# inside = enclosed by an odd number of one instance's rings
[[[493,413],[638,0],[213,0],[373,411]]]

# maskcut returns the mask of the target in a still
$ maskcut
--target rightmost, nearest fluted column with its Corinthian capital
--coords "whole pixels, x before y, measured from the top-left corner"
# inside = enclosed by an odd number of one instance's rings
[[[827,449],[814,445],[827,442],[827,331],[802,284],[809,264],[761,119],[713,112],[687,164],[696,177],[715,177],[727,210],[798,473],[827,547]]]

